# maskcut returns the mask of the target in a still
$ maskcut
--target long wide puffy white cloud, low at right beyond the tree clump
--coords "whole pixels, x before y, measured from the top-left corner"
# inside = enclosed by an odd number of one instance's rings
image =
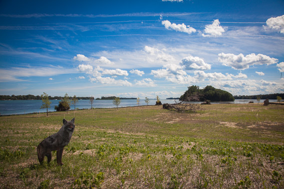
[[[270,65],[273,63],[277,63],[278,59],[271,58],[264,54],[248,54],[244,56],[242,53],[235,55],[235,54],[225,54],[219,53],[218,60],[223,63],[223,65],[231,66],[234,69],[247,69],[249,65]]]

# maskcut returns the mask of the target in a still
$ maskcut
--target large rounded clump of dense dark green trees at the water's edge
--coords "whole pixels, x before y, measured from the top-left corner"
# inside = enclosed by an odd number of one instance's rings
[[[200,89],[199,86],[192,85],[180,96],[181,101],[234,101],[234,97],[231,93],[214,88],[207,85],[205,88]]]

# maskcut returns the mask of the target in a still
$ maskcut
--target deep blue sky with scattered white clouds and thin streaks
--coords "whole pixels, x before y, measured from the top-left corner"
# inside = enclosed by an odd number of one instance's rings
[[[0,94],[284,92],[283,0],[1,0]]]

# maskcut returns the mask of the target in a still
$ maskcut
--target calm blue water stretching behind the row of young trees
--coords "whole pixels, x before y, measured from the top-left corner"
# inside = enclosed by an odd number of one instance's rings
[[[144,101],[145,99],[140,99],[140,105],[147,105]],[[256,100],[235,100],[232,102],[225,103],[248,103],[249,101]],[[276,101],[276,100],[269,100]],[[49,111],[55,111],[54,106],[58,105],[60,100],[51,100]],[[162,103],[174,103],[173,99],[161,99]],[[149,105],[155,105],[156,99],[150,99]],[[200,102],[199,102],[200,103]],[[213,103],[213,102],[212,102]],[[219,102],[215,102],[219,103]],[[260,103],[263,103],[263,100],[260,100]],[[11,115],[11,114],[24,114],[24,113],[33,113],[33,112],[46,112],[46,108],[41,109],[42,100],[0,100],[0,113],[1,115]],[[136,99],[124,99],[121,100],[119,107],[126,106],[137,106]],[[93,107],[95,108],[112,108],[116,107],[113,104],[113,100],[94,100]],[[74,109],[74,105],[70,105],[71,109]],[[76,108],[91,108],[90,100],[79,100],[76,104]]]

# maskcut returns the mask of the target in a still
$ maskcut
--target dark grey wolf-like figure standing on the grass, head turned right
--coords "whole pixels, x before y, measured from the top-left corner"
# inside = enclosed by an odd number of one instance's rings
[[[63,148],[69,143],[72,133],[75,128],[75,117],[71,121],[63,119],[63,126],[60,130],[44,139],[37,147],[38,158],[40,163],[44,161],[45,156],[48,158],[48,162],[51,161],[52,153],[51,151],[56,150],[57,164],[62,165],[62,153]]]

